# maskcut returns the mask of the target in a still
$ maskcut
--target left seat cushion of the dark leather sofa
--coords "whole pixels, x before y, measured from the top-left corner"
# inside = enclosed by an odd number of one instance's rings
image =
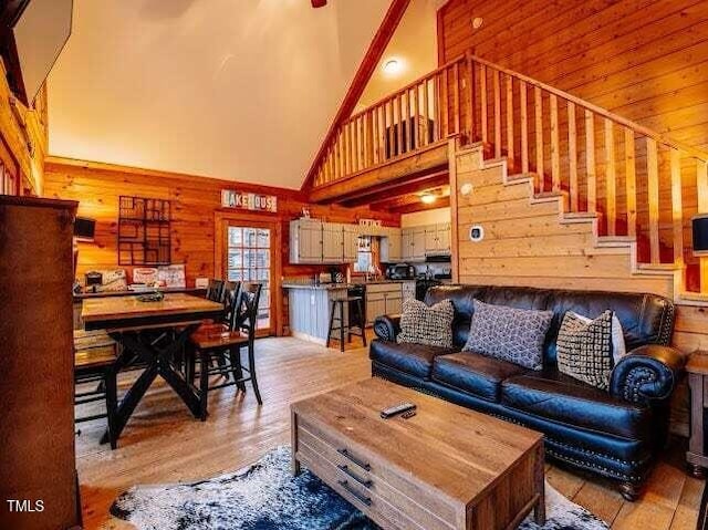
[[[430,378],[436,356],[456,352],[457,350],[449,347],[373,341],[368,356],[377,363],[427,380]]]

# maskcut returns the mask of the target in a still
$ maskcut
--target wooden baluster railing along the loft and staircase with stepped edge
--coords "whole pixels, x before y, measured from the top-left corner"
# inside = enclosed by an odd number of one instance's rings
[[[419,174],[451,156],[450,139],[503,164],[532,204],[558,202],[561,224],[592,224],[596,248],[626,249],[634,274],[671,277],[679,301],[708,304],[690,239],[708,212],[708,154],[471,52],[340,124],[311,193]]]

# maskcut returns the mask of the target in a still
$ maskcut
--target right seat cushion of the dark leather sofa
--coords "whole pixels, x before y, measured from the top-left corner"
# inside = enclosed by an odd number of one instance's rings
[[[558,371],[512,376],[501,403],[561,424],[628,439],[649,436],[650,409],[612,397]]]

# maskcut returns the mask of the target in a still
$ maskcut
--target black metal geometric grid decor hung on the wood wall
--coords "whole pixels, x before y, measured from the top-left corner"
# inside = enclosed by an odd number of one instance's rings
[[[118,208],[118,264],[169,264],[170,218],[169,200],[122,195]]]

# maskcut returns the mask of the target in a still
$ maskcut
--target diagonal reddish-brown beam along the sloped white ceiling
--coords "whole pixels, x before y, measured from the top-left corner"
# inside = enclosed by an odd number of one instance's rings
[[[386,14],[384,15],[384,20],[378,27],[372,43],[368,45],[368,50],[366,51],[356,74],[354,74],[354,79],[346,91],[346,95],[340,105],[340,110],[334,116],[332,125],[330,125],[330,129],[327,131],[317,154],[312,160],[310,170],[308,172],[308,176],[305,177],[301,190],[306,190],[312,187],[312,180],[314,179],[322,157],[326,153],[327,145],[330,145],[336,135],[339,126],[352,115],[352,112],[356,107],[356,103],[364,93],[364,89],[366,89],[368,80],[376,70],[376,65],[378,64],[378,61],[381,61],[381,58],[386,50],[386,45],[394,35],[396,28],[398,28],[400,19],[406,12],[406,8],[408,8],[409,3],[410,0],[392,0],[388,11],[386,11]]]

